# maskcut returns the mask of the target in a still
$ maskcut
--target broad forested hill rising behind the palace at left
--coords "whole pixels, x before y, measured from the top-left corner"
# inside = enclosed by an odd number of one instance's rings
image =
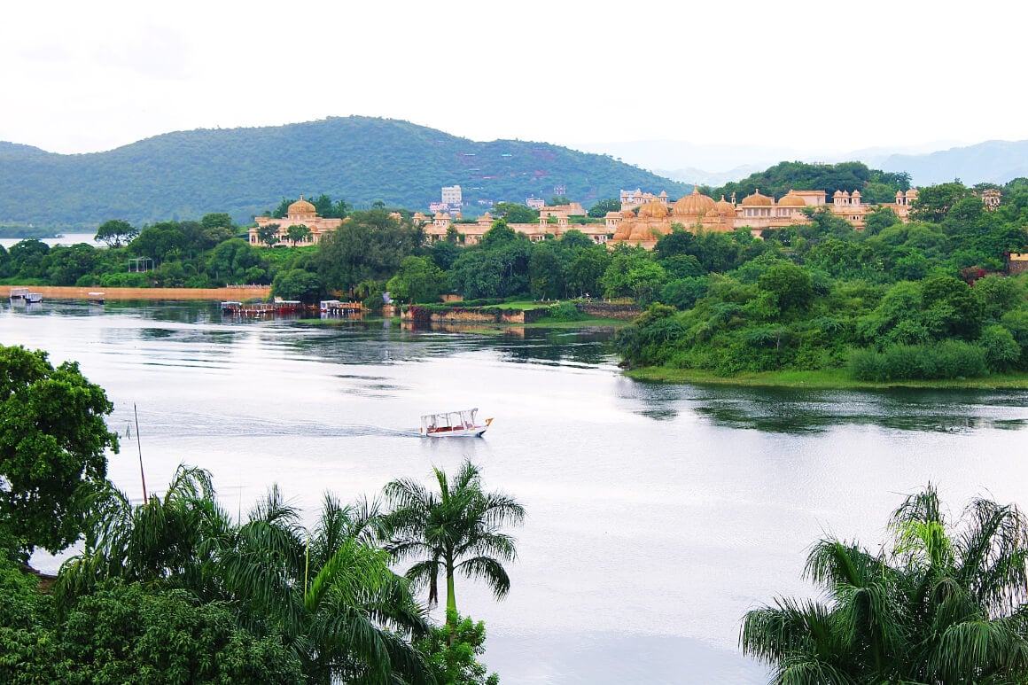
[[[164,134],[107,152],[54,154],[0,143],[0,224],[91,229],[227,212],[245,223],[283,197],[325,193],[427,211],[440,187],[465,202],[548,199],[555,185],[587,208],[624,189],[687,188],[610,156],[546,143],[481,143],[406,121],[333,117],[260,129]]]

